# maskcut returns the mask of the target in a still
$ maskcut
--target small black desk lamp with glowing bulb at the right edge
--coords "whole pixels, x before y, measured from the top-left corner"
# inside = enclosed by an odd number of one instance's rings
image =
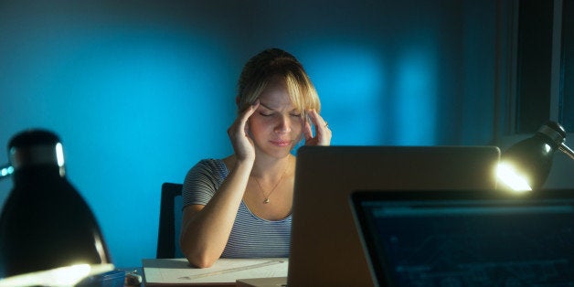
[[[552,167],[557,150],[574,159],[566,145],[566,131],[558,122],[546,122],[537,133],[508,148],[501,156],[499,182],[516,191],[541,188]]]

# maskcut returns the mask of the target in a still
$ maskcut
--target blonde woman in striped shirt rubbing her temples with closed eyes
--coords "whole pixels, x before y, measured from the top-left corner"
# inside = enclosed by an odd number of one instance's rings
[[[239,115],[228,129],[234,154],[200,161],[184,182],[180,246],[199,268],[219,257],[289,256],[292,149],[303,138],[331,142],[317,92],[291,54],[271,48],[250,58],[238,88]]]

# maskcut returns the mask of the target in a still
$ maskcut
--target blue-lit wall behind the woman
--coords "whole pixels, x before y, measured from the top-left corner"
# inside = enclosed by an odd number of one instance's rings
[[[334,144],[487,144],[495,12],[494,0],[0,2],[0,143],[58,133],[115,264],[138,266],[155,256],[161,184],[231,153],[250,56],[300,58]]]

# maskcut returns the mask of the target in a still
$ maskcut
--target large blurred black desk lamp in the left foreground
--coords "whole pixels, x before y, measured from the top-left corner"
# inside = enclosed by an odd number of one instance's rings
[[[0,218],[0,286],[73,286],[112,271],[96,218],[66,178],[58,136],[18,133],[8,154],[14,186]]]

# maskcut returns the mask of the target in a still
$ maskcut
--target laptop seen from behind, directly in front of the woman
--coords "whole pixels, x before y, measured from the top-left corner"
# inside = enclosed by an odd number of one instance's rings
[[[357,189],[488,189],[495,146],[303,146],[297,152],[289,286],[372,286],[351,209]]]

